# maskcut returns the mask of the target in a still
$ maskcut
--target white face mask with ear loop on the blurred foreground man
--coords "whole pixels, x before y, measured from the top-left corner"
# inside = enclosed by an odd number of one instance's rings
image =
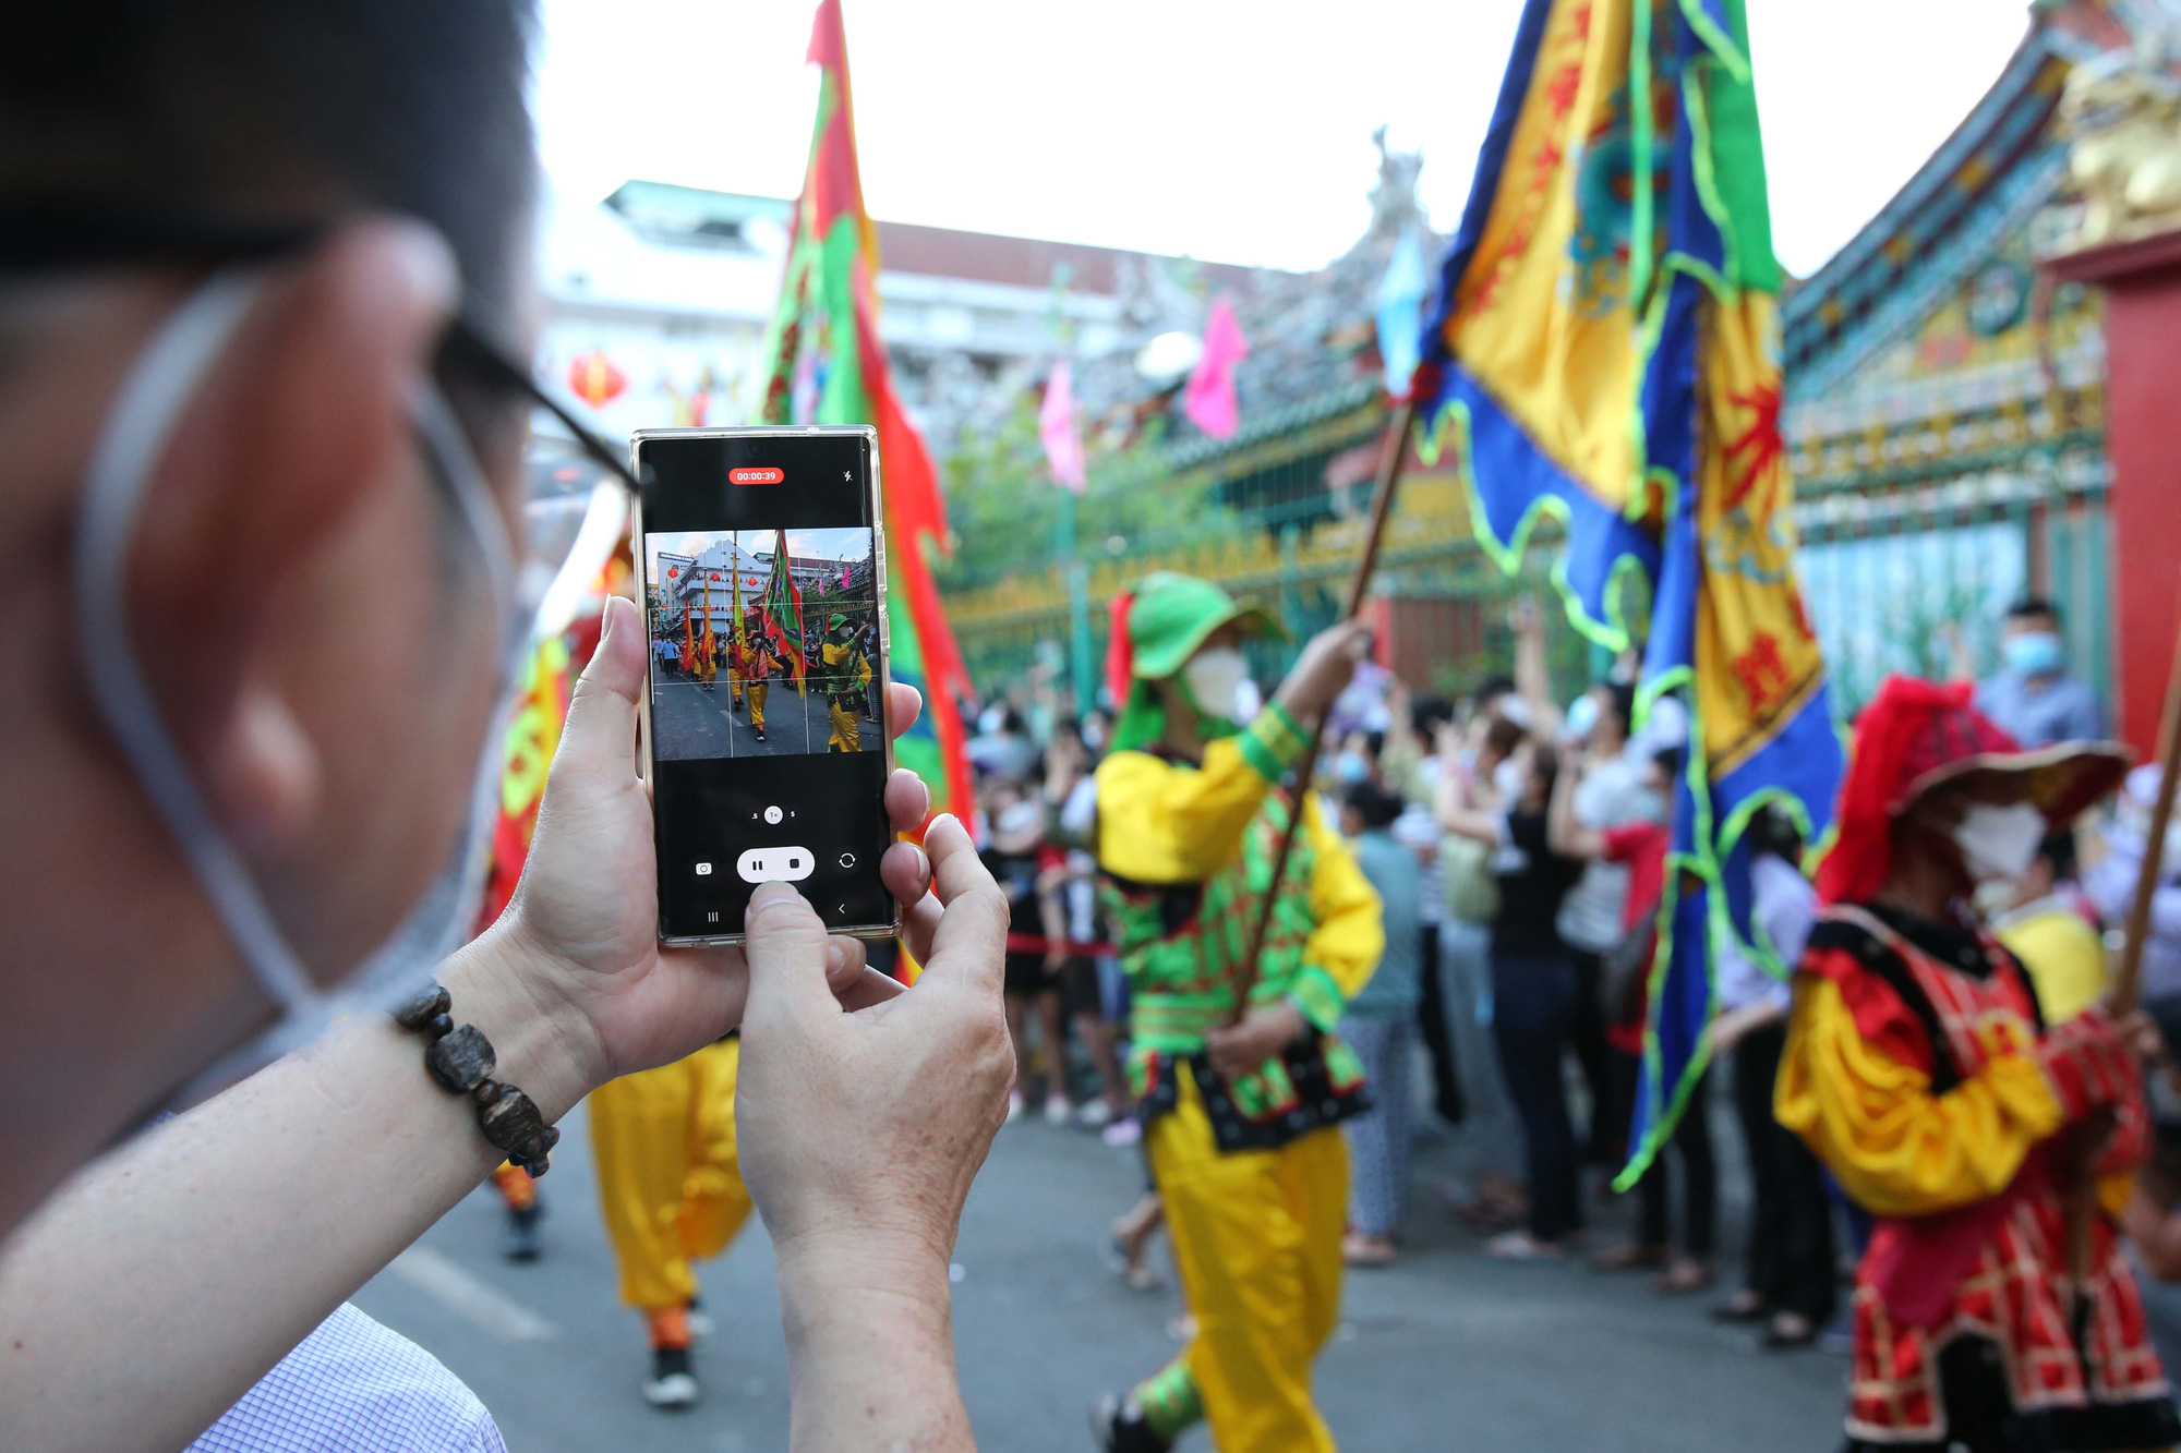
[[[177,423],[205,375],[233,338],[264,275],[229,271],[214,275],[159,327],[137,356],[113,408],[107,412],[85,476],[83,508],[74,537],[76,622],[83,633],[85,681],[107,731],[120,744],[144,794],[166,818],[168,831],[190,864],[198,886],[218,912],[251,975],[279,1006],[281,1017],[266,1034],[205,1069],[190,1089],[251,1073],[260,1065],[297,1049],[349,1012],[390,1008],[414,990],[432,966],[460,947],[478,914],[484,888],[484,846],[497,805],[502,742],[513,705],[513,665],[526,644],[515,583],[515,550],[506,519],[478,469],[462,428],[445,397],[430,382],[410,397],[410,419],[430,465],[454,493],[467,530],[475,537],[484,574],[506,633],[499,661],[499,707],[486,724],[478,779],[471,790],[469,829],[456,844],[443,875],[406,914],[395,936],[332,990],[318,988],[273,910],[242,853],[198,792],[166,720],[159,716],[137,665],[135,644],[120,580],[135,539],[144,495],[166,456]]]

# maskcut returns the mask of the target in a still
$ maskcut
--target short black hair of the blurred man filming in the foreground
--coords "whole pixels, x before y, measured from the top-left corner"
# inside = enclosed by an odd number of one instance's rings
[[[379,209],[504,323],[537,148],[530,0],[74,0],[0,46],[0,205],[238,231]]]

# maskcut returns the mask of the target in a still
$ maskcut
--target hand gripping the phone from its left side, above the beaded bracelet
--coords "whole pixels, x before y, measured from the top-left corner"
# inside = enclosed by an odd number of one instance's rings
[[[643,689],[643,628],[628,600],[606,600],[604,635],[576,683],[561,748],[539,809],[537,836],[515,901],[467,951],[480,971],[556,1028],[567,1084],[528,1084],[550,1110],[591,1086],[678,1060],[742,1021],[748,966],[742,949],[670,949],[659,942],[659,884],[652,796],[637,774],[637,692]],[[923,700],[896,685],[888,726],[907,731]],[[885,812],[912,831],[929,809],[914,772],[885,783]],[[907,842],[879,864],[907,903],[925,897],[929,866]],[[831,984],[846,995],[883,995],[861,947],[820,949]],[[541,1093],[543,1091],[543,1093]]]

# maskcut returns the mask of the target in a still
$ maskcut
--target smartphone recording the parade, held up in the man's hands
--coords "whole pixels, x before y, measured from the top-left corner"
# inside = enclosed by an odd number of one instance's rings
[[[639,430],[630,456],[659,938],[742,942],[774,879],[896,934],[877,430]]]

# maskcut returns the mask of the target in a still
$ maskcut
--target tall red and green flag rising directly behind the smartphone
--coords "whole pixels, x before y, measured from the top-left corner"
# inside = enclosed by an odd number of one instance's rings
[[[894,397],[879,336],[879,238],[864,209],[855,161],[840,0],[820,0],[809,59],[824,68],[824,81],[781,305],[766,332],[763,415],[768,423],[870,423],[879,430],[890,668],[894,681],[907,681],[925,696],[923,716],[894,744],[894,755],[931,785],[936,812],[960,814],[971,805],[957,709],[968,694],[968,670],[927,559],[927,550],[944,550],[947,506],[931,454]]]

